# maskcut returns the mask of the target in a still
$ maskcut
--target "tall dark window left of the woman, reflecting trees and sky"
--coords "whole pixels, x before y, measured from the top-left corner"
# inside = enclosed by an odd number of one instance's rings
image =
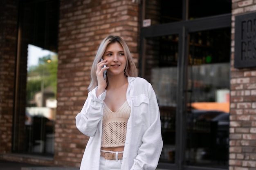
[[[13,152],[54,154],[58,1],[20,2]]]

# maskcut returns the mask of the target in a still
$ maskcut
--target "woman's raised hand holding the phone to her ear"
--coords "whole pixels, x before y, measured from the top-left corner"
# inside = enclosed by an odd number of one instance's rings
[[[109,67],[103,67],[104,65],[107,65],[108,62],[107,60],[103,60],[97,64],[97,69],[96,69],[96,76],[97,76],[97,81],[98,81],[98,89],[97,89],[97,97],[102,94],[105,91],[105,88],[107,87],[107,81],[103,77],[103,71],[107,70]]]

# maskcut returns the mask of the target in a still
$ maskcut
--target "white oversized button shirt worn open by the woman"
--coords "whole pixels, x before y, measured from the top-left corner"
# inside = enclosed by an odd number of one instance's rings
[[[80,170],[99,170],[103,100],[106,91],[96,97],[97,87],[88,93],[83,108],[76,115],[76,127],[90,136]],[[163,141],[160,113],[150,83],[140,77],[128,77],[126,99],[131,108],[121,170],[155,170]]]

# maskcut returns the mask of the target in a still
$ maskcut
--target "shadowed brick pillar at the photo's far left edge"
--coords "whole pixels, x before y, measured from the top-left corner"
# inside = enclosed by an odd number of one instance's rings
[[[0,1],[0,153],[11,152],[18,0]]]

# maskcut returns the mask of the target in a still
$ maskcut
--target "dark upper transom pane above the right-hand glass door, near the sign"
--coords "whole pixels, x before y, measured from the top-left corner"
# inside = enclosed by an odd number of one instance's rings
[[[189,20],[231,13],[231,0],[189,0]]]

